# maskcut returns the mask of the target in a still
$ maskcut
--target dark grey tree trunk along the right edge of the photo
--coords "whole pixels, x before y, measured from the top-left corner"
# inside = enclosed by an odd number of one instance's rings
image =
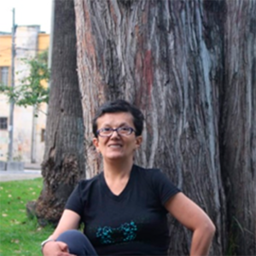
[[[256,255],[256,2],[227,1],[222,170],[230,255]]]

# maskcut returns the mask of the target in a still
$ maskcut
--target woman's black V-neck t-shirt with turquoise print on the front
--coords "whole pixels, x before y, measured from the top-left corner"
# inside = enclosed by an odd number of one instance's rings
[[[158,169],[132,166],[120,195],[103,173],[80,181],[66,209],[77,212],[99,256],[166,256],[170,241],[164,204],[180,192]]]

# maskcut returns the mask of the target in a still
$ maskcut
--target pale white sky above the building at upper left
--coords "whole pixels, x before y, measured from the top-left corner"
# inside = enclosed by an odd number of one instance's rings
[[[11,32],[15,8],[15,24],[40,25],[41,32],[50,32],[53,0],[0,0],[0,32]]]

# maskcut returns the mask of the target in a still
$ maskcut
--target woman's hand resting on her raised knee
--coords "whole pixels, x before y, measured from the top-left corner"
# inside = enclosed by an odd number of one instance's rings
[[[67,243],[62,241],[48,241],[42,252],[44,256],[76,256],[69,253]]]

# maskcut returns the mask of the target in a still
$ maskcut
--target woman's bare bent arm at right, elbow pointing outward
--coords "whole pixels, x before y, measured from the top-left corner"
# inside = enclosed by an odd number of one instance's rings
[[[166,201],[165,207],[174,218],[193,231],[190,256],[207,256],[215,233],[215,226],[207,213],[181,192]]]

